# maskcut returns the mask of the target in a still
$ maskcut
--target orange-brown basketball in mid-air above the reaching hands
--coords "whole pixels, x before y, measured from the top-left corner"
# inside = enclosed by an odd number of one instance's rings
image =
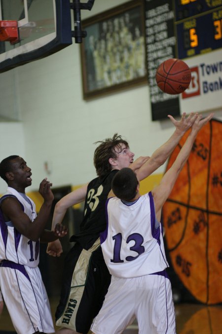
[[[162,62],[156,70],[156,83],[164,93],[183,93],[191,81],[189,66],[180,59],[170,58]]]

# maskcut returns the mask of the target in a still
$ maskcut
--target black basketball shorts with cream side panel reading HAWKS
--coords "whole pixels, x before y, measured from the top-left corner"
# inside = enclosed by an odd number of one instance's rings
[[[87,334],[102,307],[110,282],[100,239],[89,250],[76,242],[65,259],[56,325]]]

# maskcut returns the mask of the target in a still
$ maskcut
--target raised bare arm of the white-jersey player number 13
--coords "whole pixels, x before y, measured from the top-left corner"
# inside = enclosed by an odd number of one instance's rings
[[[164,174],[159,186],[157,186],[152,191],[157,220],[160,220],[162,206],[165,203],[168,196],[170,195],[174,187],[174,184],[178,178],[178,175],[188,159],[188,156],[192,149],[197,133],[212,117],[213,113],[211,113],[208,117],[204,119],[201,119],[202,115],[198,115],[198,117],[196,118],[195,122],[192,125],[190,134],[187,137],[173,165]]]

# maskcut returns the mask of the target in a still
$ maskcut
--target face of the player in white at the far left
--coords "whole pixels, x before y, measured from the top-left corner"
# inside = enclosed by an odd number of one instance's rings
[[[11,173],[15,185],[24,188],[31,186],[31,168],[27,166],[26,161],[20,156],[11,161]]]

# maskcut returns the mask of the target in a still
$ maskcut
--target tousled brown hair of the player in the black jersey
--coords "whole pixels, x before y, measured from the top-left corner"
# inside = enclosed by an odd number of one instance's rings
[[[123,140],[121,136],[118,136],[118,134],[114,134],[112,138],[107,138],[104,141],[99,141],[95,144],[97,143],[100,143],[100,145],[94,152],[94,166],[97,175],[102,177],[111,171],[109,159],[115,159],[117,157],[115,148],[117,148],[117,150],[121,149],[121,144],[125,144],[126,147],[129,148],[129,144]]]

